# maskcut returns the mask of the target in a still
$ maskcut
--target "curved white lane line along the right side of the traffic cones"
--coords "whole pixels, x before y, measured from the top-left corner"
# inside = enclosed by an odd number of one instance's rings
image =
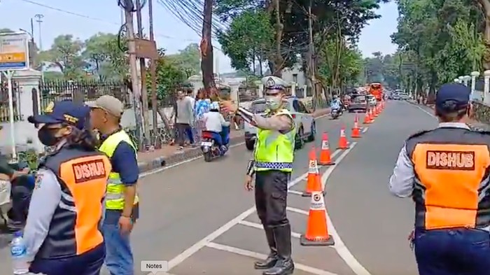
[[[357,143],[353,143],[352,146],[346,150],[346,153],[349,153],[354,146],[356,146]],[[337,162],[340,162],[346,154],[342,154]],[[325,190],[325,185],[327,183],[328,178],[332,174],[333,169],[329,169],[325,172],[323,172],[323,175],[321,176],[321,181],[323,182],[323,190]],[[344,262],[352,269],[352,271],[356,275],[371,275],[363,265],[360,265],[360,262],[352,255],[351,251],[345,246],[344,241],[340,239],[339,234],[337,233],[337,230],[335,230],[335,227],[333,226],[332,220],[330,219],[330,216],[328,216],[328,212],[325,210],[325,216],[327,217],[327,225],[328,225],[328,232],[332,235],[333,239],[335,240],[335,250],[339,254],[340,258],[344,260]]]

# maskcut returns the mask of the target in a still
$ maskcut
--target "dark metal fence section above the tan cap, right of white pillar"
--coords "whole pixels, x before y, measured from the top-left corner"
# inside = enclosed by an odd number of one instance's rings
[[[45,81],[39,83],[39,92],[41,93],[41,110],[44,110],[52,101],[93,101],[105,94],[118,98],[127,108],[133,104],[132,94],[123,81]]]

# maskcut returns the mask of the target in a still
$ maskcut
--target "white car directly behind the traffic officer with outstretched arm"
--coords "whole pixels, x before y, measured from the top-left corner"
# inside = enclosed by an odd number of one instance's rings
[[[300,101],[300,99],[297,99],[297,97],[287,97],[286,101],[286,108],[290,111],[291,115],[293,115],[293,119],[295,120],[295,149],[299,149],[304,146],[305,142],[314,141],[316,134],[315,119],[313,115],[311,115],[308,108],[304,106],[304,104]],[[266,109],[267,104],[265,103],[265,99],[255,99],[252,101],[250,108],[251,112],[263,114],[265,113]],[[245,146],[248,150],[253,150],[257,135],[257,127],[245,122],[244,132]]]

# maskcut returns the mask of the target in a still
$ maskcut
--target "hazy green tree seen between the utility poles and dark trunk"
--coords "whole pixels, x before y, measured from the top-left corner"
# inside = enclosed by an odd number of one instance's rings
[[[197,43],[190,43],[183,50],[179,50],[174,55],[167,55],[165,58],[182,69],[186,73],[187,78],[200,72],[201,55]]]

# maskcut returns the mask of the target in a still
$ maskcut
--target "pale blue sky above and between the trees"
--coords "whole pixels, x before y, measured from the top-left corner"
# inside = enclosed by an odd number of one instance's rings
[[[160,6],[158,1],[153,3],[153,26],[158,48],[165,48],[167,53],[172,54],[189,43],[200,42],[200,35],[193,29]],[[144,28],[148,29],[148,10],[143,13]],[[371,56],[372,52],[389,54],[396,50],[390,38],[396,31],[396,3],[391,1],[382,4],[377,13],[381,18],[370,21],[363,29],[358,43],[365,57]],[[41,31],[35,15],[43,15]],[[43,50],[48,50],[54,38],[60,34],[73,34],[85,40],[97,32],[116,33],[120,27],[120,16],[116,0],[0,0],[0,28],[30,31],[31,18],[34,18],[34,38],[39,46],[41,34]],[[218,58],[218,73],[234,71],[230,59],[219,50],[220,45],[216,41],[213,44]]]

